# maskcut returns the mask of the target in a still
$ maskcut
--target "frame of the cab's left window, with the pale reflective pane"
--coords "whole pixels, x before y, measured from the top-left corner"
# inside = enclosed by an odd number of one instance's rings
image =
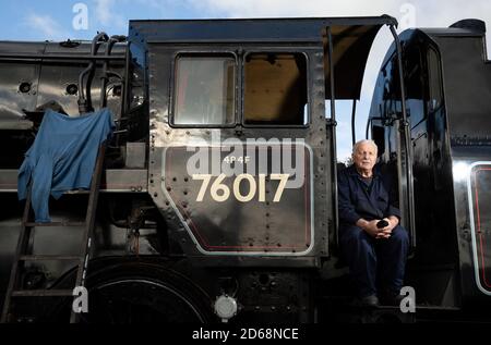
[[[176,116],[176,83],[177,83],[177,61],[181,57],[202,57],[202,58],[211,58],[211,57],[224,57],[224,58],[233,58],[233,120],[231,123],[226,124],[177,124],[175,123]],[[239,57],[237,52],[233,50],[180,50],[173,54],[173,59],[170,63],[170,83],[169,83],[169,126],[172,128],[233,128],[237,126],[238,122],[238,110],[239,110],[239,73],[237,73],[237,69],[239,66]]]

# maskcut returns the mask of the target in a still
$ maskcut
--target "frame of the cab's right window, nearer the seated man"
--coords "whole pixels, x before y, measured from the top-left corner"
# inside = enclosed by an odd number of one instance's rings
[[[244,100],[246,100],[246,59],[249,54],[261,54],[261,53],[284,53],[284,54],[301,54],[306,59],[306,93],[307,93],[307,121],[304,124],[247,124],[244,116]],[[312,121],[312,107],[311,107],[311,95],[310,95],[310,60],[309,54],[300,49],[284,49],[284,48],[261,48],[261,49],[244,49],[239,63],[240,69],[240,115],[239,121],[241,126],[246,128],[309,128]]]

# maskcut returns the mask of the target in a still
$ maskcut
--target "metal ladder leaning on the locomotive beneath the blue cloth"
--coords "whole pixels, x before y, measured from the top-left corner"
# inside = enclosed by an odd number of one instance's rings
[[[24,264],[27,261],[43,261],[43,260],[59,260],[59,261],[73,261],[76,262],[76,281],[75,286],[84,286],[87,272],[87,264],[89,259],[89,250],[92,245],[92,237],[94,234],[95,214],[97,209],[97,200],[99,196],[100,176],[103,174],[103,163],[106,146],[103,144],[99,147],[96,164],[91,181],[91,189],[88,192],[87,211],[84,222],[48,222],[36,223],[29,220],[31,215],[31,187],[27,193],[27,198],[24,207],[24,214],[22,219],[22,229],[19,234],[17,247],[10,273],[9,286],[5,294],[5,300],[3,304],[3,310],[1,316],[1,323],[12,322],[13,315],[11,313],[12,299],[16,297],[67,297],[73,296],[73,289],[23,289],[22,286],[22,272]],[[86,193],[86,192],[85,192]],[[75,193],[77,194],[77,193]],[[83,239],[79,255],[65,256],[65,255],[31,255],[28,254],[29,242],[33,235],[34,227],[43,226],[84,226]],[[38,230],[39,231],[39,230]],[[75,296],[77,297],[77,296]],[[80,313],[74,312],[73,308],[70,316],[70,323],[76,323],[80,321]]]

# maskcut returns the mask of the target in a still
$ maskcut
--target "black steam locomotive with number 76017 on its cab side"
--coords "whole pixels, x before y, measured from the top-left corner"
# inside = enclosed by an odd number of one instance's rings
[[[38,226],[19,279],[27,293],[9,291],[25,226],[17,170],[46,110],[103,108],[116,131],[79,321],[488,320],[486,26],[465,20],[400,36],[396,26],[387,15],[130,21],[127,37],[0,42],[3,320],[69,320],[72,296],[28,292],[73,287],[75,264],[49,255],[77,252],[81,226]],[[337,248],[336,100],[356,104],[386,27],[394,44],[367,136],[398,176],[412,315],[351,305]],[[51,199],[51,218],[79,220],[86,202],[82,193]]]

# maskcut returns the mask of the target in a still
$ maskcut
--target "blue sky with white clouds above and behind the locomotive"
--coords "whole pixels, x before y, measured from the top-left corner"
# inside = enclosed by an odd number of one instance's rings
[[[127,35],[129,20],[382,14],[397,19],[399,33],[409,27],[447,27],[463,19],[480,19],[491,28],[490,0],[0,0],[0,40],[92,39],[98,30]],[[357,106],[357,139],[364,138],[376,74],[391,42],[388,29],[383,28],[367,63]],[[490,38],[487,42],[491,47]],[[351,104],[338,104],[336,114],[338,160],[345,161],[351,149]]]

